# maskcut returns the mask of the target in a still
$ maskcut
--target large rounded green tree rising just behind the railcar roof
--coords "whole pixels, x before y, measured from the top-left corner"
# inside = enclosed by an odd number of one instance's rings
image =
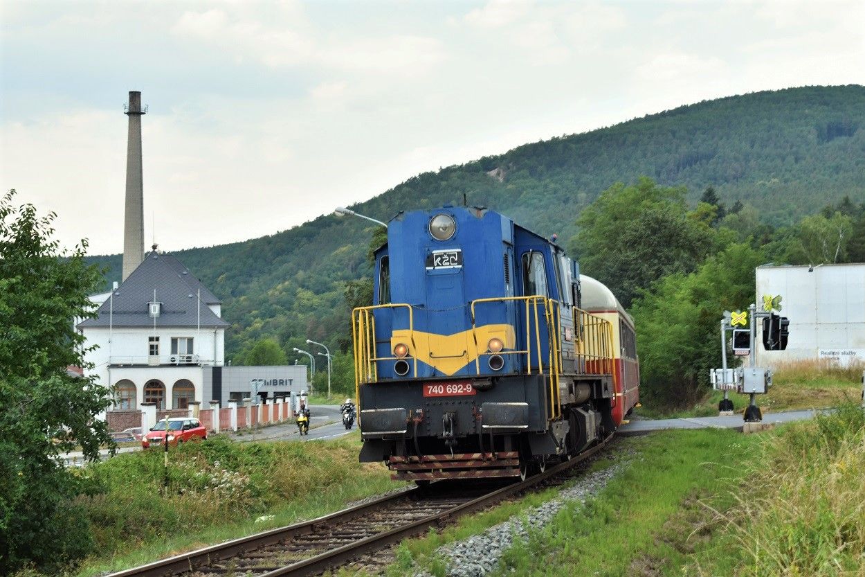
[[[657,279],[695,269],[713,250],[715,236],[705,219],[689,218],[684,197],[683,188],[650,178],[612,185],[577,220],[571,245],[580,269],[604,282],[625,307]]]

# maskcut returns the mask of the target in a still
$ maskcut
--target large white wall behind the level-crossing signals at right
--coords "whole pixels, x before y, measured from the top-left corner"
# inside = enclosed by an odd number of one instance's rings
[[[758,267],[756,302],[781,295],[780,314],[790,319],[785,351],[766,351],[758,322],[757,361],[818,359],[821,352],[856,353],[865,360],[865,264]]]

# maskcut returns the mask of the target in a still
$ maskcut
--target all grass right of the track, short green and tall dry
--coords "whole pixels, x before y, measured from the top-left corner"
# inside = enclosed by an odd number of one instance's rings
[[[664,431],[624,446],[637,453],[626,470],[516,541],[498,575],[865,574],[865,417],[856,405],[759,435]],[[406,541],[388,576],[443,575],[440,545],[551,496]]]

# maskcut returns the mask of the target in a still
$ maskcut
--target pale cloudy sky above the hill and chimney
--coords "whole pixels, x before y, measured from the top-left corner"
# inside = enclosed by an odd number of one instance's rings
[[[120,252],[139,90],[145,243],[180,250],[527,142],[852,83],[863,0],[0,0],[0,186],[62,245]]]

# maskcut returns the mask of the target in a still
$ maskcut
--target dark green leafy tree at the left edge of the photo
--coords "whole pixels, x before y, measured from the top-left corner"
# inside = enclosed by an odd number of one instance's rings
[[[28,562],[50,573],[93,547],[61,453],[80,445],[96,459],[111,443],[96,418],[110,391],[67,372],[86,368],[73,319],[93,316],[87,295],[101,276],[84,261],[86,241],[59,250],[54,213],[38,217],[15,195],[0,200],[0,574]]]

